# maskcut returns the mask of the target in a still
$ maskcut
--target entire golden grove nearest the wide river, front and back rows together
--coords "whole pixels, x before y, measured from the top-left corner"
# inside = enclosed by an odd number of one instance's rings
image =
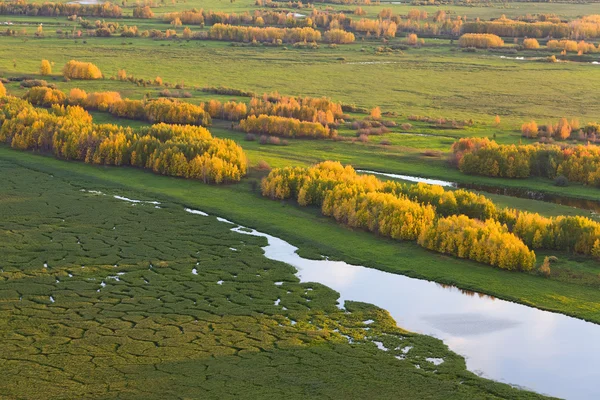
[[[505,269],[533,268],[529,248],[600,257],[600,224],[589,218],[500,209],[465,190],[383,182],[330,161],[273,170],[262,192],[320,206],[324,215],[352,227]]]

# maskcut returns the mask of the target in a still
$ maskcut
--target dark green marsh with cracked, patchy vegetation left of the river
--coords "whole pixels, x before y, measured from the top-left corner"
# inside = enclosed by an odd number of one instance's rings
[[[14,155],[0,159],[5,398],[541,397],[466,372],[384,310],[340,310],[337,293],[264,258],[264,240],[168,193]]]

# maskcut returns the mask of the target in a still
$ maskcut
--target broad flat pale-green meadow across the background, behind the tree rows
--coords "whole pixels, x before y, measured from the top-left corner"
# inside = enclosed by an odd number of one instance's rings
[[[257,93],[327,95],[367,108],[380,106],[404,117],[473,118],[491,125],[500,115],[512,129],[532,118],[545,122],[566,116],[588,122],[600,115],[594,92],[586,90],[600,85],[597,65],[506,60],[488,52],[463,53],[444,45],[448,40],[439,42],[379,54],[375,49],[381,43],[373,42],[286,50],[207,41],[0,37],[0,71],[35,74],[40,60],[48,59],[60,73],[67,61],[86,60],[107,77],[124,68],[136,77],[160,76],[189,87],[223,85]],[[556,101],[559,90],[568,102]]]

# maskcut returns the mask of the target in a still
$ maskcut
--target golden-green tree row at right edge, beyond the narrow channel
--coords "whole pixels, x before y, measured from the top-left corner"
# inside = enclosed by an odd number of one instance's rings
[[[595,145],[501,145],[487,138],[464,138],[452,145],[461,172],[504,178],[541,176],[600,187],[600,147]]]

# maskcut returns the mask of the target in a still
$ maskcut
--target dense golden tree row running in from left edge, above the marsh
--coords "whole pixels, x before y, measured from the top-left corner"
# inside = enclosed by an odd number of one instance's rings
[[[0,141],[21,150],[106,165],[131,165],[206,183],[237,182],[246,155],[229,139],[213,138],[190,125],[156,124],[133,130],[94,124],[79,106],[35,108],[11,96],[0,98]]]

